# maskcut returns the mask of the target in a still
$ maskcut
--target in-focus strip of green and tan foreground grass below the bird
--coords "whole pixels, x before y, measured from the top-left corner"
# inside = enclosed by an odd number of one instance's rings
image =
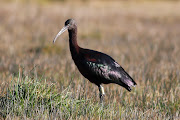
[[[171,93],[167,99],[162,97],[167,96],[166,89],[160,88],[160,94],[149,90],[157,92],[156,86],[136,89],[130,95],[123,91],[120,102],[108,102],[102,107],[93,98],[77,96],[80,93],[72,92],[72,83],[59,92],[44,77],[31,78],[19,72],[0,97],[0,114],[6,119],[176,119],[179,100],[173,95],[177,91],[167,90]]]

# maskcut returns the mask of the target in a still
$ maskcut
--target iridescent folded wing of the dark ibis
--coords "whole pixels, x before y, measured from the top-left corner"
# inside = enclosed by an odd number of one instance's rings
[[[91,51],[90,53],[86,52],[85,59],[91,73],[105,79],[107,83],[117,83],[129,87],[136,85],[130,75],[112,57],[101,52]]]

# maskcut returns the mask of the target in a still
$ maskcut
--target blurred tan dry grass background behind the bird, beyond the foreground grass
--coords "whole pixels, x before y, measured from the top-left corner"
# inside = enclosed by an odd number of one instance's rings
[[[52,43],[69,18],[77,22],[81,47],[109,54],[137,82],[136,92],[128,93],[124,102],[136,100],[141,106],[146,95],[148,106],[163,98],[165,106],[171,105],[170,114],[177,115],[178,0],[0,0],[1,93],[12,76],[23,71],[24,75],[46,77],[60,91],[71,84],[72,91],[99,100],[98,88],[80,75],[71,59],[68,32]],[[113,84],[104,87],[105,101],[123,105],[125,89]]]

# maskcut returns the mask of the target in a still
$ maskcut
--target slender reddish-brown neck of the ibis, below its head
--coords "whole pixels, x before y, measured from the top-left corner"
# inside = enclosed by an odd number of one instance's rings
[[[72,56],[79,53],[79,46],[77,44],[77,28],[68,30],[69,32],[69,47]]]

